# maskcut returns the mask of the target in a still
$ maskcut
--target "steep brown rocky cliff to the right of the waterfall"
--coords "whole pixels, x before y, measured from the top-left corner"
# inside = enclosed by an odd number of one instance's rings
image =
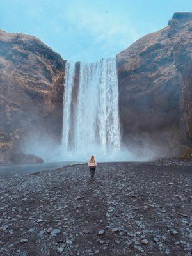
[[[120,52],[117,66],[123,141],[150,140],[172,154],[191,148],[192,13],[175,13]]]

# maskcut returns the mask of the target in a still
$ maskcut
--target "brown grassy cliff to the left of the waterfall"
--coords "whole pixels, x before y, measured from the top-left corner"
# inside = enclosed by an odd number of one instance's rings
[[[34,134],[60,141],[64,72],[65,61],[37,38],[0,31],[0,163]]]

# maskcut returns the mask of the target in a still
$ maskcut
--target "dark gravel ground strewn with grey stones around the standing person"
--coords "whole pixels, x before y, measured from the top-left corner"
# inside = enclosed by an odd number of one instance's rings
[[[190,164],[85,164],[1,179],[0,255],[191,255]]]

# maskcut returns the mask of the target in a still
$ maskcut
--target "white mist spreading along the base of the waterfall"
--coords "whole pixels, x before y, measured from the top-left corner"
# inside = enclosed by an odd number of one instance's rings
[[[136,138],[138,140],[138,138]],[[42,137],[40,134],[33,134],[31,138],[23,144],[22,151],[27,154],[35,154],[44,159],[44,162],[54,161],[77,161],[87,162],[93,154],[98,162],[105,161],[152,161],[161,157],[167,157],[170,152],[167,147],[154,143],[152,139],[140,138],[138,143],[129,142],[129,138],[124,145],[121,141],[121,146],[115,154],[105,153],[99,145],[87,145],[84,150],[68,150],[65,151],[63,145],[56,143],[52,138]],[[142,145],[141,145],[142,144]]]

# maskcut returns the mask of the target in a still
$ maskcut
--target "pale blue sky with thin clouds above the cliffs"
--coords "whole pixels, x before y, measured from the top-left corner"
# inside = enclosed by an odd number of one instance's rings
[[[0,0],[0,29],[38,37],[65,60],[115,56],[192,12],[192,0]]]

